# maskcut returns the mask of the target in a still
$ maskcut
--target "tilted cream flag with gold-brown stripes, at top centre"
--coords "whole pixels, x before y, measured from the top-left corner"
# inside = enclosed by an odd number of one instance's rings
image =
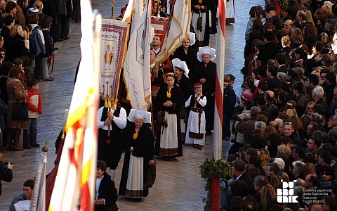
[[[190,38],[191,1],[176,0],[169,28],[166,31],[163,45],[156,58],[156,63],[163,63],[166,58],[178,49],[184,39]]]

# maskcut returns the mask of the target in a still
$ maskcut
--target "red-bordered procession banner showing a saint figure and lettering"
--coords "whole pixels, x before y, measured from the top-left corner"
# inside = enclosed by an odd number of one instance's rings
[[[100,32],[100,96],[105,101],[116,101],[121,66],[126,53],[128,23],[119,20],[102,20]]]

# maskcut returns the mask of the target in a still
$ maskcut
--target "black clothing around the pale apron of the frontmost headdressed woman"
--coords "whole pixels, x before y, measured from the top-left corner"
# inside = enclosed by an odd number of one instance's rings
[[[130,124],[122,133],[123,147],[125,149],[123,170],[121,172],[121,183],[119,185],[119,196],[124,196],[126,192],[126,184],[128,181],[128,166],[130,165],[131,152],[129,149],[133,147],[133,156],[143,157],[143,182],[147,182],[148,162],[153,159],[154,136],[149,127],[145,124],[140,128],[137,139],[133,139],[135,133],[135,123]],[[142,175],[140,175],[142,177]],[[148,188],[144,189],[143,196],[149,194]]]

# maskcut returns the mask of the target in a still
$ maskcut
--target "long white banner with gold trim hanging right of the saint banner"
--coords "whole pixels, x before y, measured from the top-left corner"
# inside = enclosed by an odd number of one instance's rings
[[[147,0],[143,15],[131,32],[124,61],[124,82],[131,107],[147,110],[151,106],[150,44],[151,1]]]

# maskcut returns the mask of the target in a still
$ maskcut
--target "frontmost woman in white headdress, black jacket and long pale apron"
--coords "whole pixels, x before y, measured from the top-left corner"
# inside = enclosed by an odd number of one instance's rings
[[[132,122],[122,134],[125,149],[119,196],[140,198],[149,194],[147,183],[147,170],[154,165],[152,131],[144,123],[151,123],[151,113],[132,109],[128,120]]]

